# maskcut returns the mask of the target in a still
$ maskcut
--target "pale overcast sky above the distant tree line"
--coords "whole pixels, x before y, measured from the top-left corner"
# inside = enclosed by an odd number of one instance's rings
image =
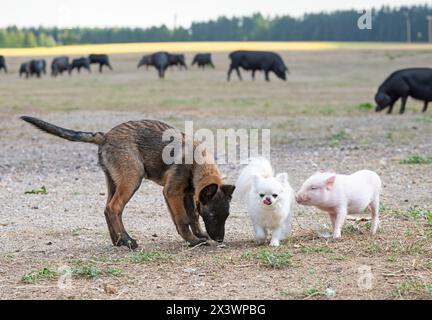
[[[366,9],[383,4],[422,4],[419,0],[0,0],[0,27],[189,26],[221,15],[301,16],[305,12]]]

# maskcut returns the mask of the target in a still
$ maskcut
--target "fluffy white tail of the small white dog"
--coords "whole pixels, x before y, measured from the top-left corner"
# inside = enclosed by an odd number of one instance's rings
[[[266,158],[252,158],[249,164],[240,172],[240,176],[235,184],[233,198],[244,201],[246,195],[252,188],[253,176],[258,175],[263,178],[274,176],[273,168]]]

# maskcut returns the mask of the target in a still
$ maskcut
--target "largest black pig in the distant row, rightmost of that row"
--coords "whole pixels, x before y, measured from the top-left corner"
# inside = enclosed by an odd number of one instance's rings
[[[240,67],[245,70],[252,70],[252,79],[255,80],[255,71],[264,71],[266,81],[270,81],[269,73],[273,71],[280,79],[286,80],[287,66],[280,55],[268,51],[234,51],[229,55],[231,65],[228,70],[228,81],[231,72],[235,70],[240,80]]]

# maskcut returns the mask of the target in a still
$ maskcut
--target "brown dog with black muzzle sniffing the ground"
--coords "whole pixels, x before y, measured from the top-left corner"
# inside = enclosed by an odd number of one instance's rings
[[[162,135],[166,130],[174,130],[171,126],[156,120],[129,121],[107,133],[92,133],[60,128],[27,116],[21,119],[63,139],[99,146],[99,164],[108,187],[105,218],[114,245],[138,247],[123,226],[122,214],[143,178],[164,187],[163,195],[177,231],[190,245],[205,242],[208,235],[223,241],[234,186],[223,184],[212,161],[165,164],[162,153],[169,142],[163,141]],[[180,136],[184,145],[185,136],[183,133]],[[195,149],[198,143],[193,145]],[[200,227],[199,216],[208,235]]]

